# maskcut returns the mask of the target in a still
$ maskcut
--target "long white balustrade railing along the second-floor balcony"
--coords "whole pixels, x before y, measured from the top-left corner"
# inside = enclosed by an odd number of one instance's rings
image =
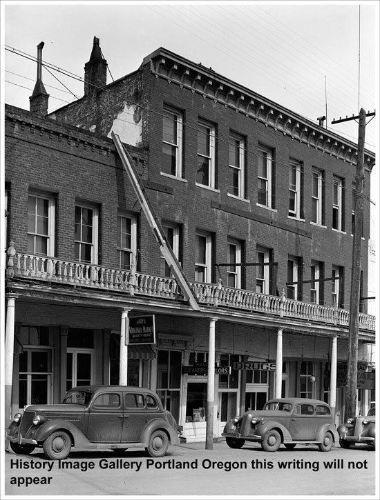
[[[184,300],[175,279],[150,276],[135,270],[111,269],[93,264],[61,261],[52,257],[17,254],[12,242],[8,249],[7,276],[98,290],[115,290],[129,295]],[[348,310],[286,299],[284,292],[281,297],[275,297],[222,286],[221,280],[217,285],[212,283],[190,283],[190,285],[200,304],[214,307],[262,312],[340,326],[348,326],[350,319]],[[359,328],[374,331],[374,316],[359,314]]]

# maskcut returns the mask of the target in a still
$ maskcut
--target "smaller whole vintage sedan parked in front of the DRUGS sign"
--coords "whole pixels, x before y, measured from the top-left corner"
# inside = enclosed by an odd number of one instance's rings
[[[241,448],[245,441],[253,441],[267,452],[275,452],[281,443],[288,450],[298,443],[316,444],[327,452],[339,440],[330,406],[304,398],[267,401],[263,410],[248,410],[243,417],[227,422],[222,436],[230,448]]]

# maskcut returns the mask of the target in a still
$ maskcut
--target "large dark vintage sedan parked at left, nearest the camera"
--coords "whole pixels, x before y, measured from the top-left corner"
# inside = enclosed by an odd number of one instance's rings
[[[182,429],[162,408],[155,392],[127,386],[80,386],[61,404],[26,406],[8,428],[10,448],[30,454],[43,448],[52,460],[65,459],[72,446],[88,450],[145,448],[163,457]]]

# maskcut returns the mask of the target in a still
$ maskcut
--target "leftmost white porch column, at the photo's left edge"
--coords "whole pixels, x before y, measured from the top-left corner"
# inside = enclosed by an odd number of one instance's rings
[[[13,348],[15,345],[15,299],[17,294],[7,296],[6,346],[4,352],[4,402],[6,410],[5,424],[8,427],[12,421],[12,375],[13,375]]]

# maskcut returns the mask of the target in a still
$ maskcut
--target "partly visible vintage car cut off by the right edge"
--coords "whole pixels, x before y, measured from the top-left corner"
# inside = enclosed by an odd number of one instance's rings
[[[366,443],[375,448],[374,426],[375,419],[374,406],[371,406],[368,415],[359,415],[354,419],[348,419],[338,427],[339,444],[342,448],[350,448],[354,443]]]

